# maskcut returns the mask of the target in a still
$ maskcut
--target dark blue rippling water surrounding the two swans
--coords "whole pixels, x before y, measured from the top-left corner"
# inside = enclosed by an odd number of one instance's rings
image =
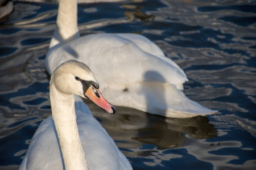
[[[0,169],[18,169],[51,114],[44,58],[57,5],[49,2],[15,2],[1,19]],[[117,107],[109,117],[88,103],[134,169],[256,169],[256,2],[80,4],[79,28],[148,37],[187,74],[185,95],[221,112],[178,119]]]

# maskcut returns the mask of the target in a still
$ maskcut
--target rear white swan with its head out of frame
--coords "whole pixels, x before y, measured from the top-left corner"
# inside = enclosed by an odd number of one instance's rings
[[[146,37],[132,33],[80,37],[76,1],[60,0],[49,47],[49,74],[69,59],[85,62],[102,82],[102,94],[114,105],[179,118],[215,112],[183,94],[187,76]]]

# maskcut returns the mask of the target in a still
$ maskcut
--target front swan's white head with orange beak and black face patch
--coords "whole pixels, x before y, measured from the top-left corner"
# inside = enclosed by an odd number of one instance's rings
[[[99,84],[92,71],[84,63],[69,60],[58,66],[51,76],[50,86],[67,95],[87,98],[106,112],[115,113],[115,108],[102,96]]]

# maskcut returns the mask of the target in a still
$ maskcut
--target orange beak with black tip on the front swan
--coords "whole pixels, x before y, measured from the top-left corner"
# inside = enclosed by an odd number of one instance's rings
[[[104,111],[111,114],[115,113],[115,107],[112,104],[110,104],[108,101],[106,101],[106,99],[102,96],[101,92],[97,88],[93,87],[92,85],[90,85],[90,87],[88,88],[88,90],[85,92],[84,95],[88,99],[92,100],[93,103],[95,103],[98,107],[100,107]]]

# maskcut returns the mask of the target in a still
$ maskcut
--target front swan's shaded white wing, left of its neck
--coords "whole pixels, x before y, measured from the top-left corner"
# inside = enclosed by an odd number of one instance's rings
[[[59,141],[52,116],[46,118],[39,125],[19,169],[63,169]]]

